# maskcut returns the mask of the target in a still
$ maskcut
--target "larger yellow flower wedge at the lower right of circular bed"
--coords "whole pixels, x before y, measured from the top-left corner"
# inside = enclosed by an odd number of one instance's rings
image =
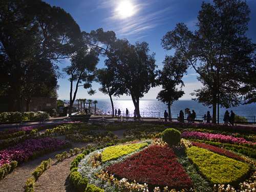
[[[248,164],[210,152],[204,148],[187,148],[187,156],[199,171],[214,184],[238,183],[249,171]]]

